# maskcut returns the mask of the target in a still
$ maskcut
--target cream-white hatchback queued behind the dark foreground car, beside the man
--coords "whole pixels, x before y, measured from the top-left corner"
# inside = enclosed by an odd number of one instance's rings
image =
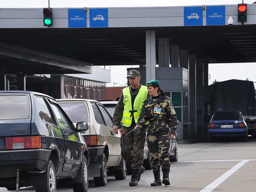
[[[89,177],[96,186],[107,184],[107,170],[113,171],[115,179],[126,178],[126,163],[121,156],[120,131],[113,131],[113,120],[105,107],[91,99],[57,99],[71,121],[85,121],[89,125],[82,132],[89,150]]]

